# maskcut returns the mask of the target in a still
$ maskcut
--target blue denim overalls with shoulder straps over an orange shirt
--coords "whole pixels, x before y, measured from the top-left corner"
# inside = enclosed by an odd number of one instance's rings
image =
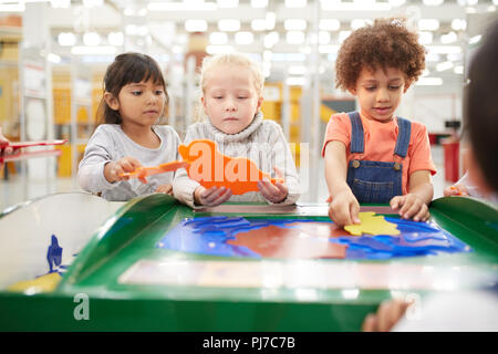
[[[347,113],[351,119],[351,154],[363,154],[363,125],[357,112]],[[394,154],[400,162],[408,152],[412,124],[397,117],[398,134]],[[347,185],[360,204],[387,204],[395,196],[403,195],[403,165],[401,163],[352,159],[347,166]]]

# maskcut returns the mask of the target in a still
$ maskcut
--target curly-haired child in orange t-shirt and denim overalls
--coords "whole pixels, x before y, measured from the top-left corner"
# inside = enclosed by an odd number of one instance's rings
[[[425,67],[418,35],[400,19],[377,19],[344,41],[335,66],[336,86],[357,97],[360,112],[334,114],[326,126],[330,218],[359,223],[360,204],[390,202],[402,218],[427,220],[436,173],[427,128],[395,115]]]

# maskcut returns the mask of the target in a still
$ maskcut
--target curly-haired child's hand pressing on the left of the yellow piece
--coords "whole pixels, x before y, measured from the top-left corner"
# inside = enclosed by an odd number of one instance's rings
[[[349,188],[335,195],[329,205],[329,218],[339,227],[360,223],[359,212],[360,204]]]

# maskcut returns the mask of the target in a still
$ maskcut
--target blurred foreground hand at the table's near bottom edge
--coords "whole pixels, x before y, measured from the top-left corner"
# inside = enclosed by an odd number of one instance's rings
[[[363,332],[388,332],[405,314],[409,302],[402,300],[384,301],[375,314],[371,313],[362,324]]]

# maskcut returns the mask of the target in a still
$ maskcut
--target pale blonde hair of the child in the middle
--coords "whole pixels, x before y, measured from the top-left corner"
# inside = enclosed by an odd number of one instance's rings
[[[242,53],[226,53],[214,56],[206,56],[203,60],[203,67],[200,70],[200,90],[204,94],[206,90],[207,77],[210,70],[217,65],[237,65],[249,69],[255,79],[255,88],[259,96],[262,96],[264,86],[264,75],[261,67],[252,59]]]

